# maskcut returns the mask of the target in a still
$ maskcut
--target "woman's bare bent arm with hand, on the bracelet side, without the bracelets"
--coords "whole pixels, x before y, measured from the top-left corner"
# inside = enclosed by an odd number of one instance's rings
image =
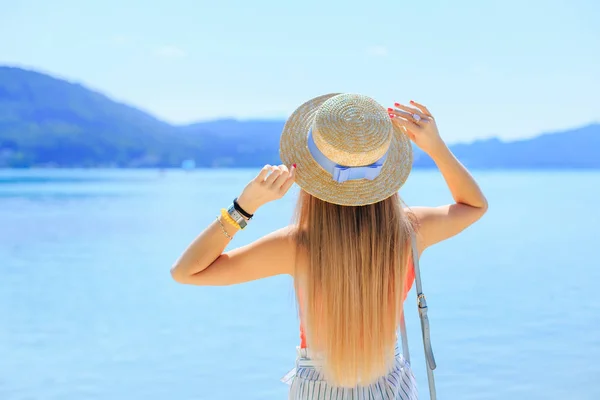
[[[261,205],[281,198],[294,182],[294,170],[265,166],[240,195],[240,206],[254,214]],[[175,262],[171,268],[173,279],[195,285],[230,285],[291,272],[290,257],[295,252],[290,251],[290,228],[223,253],[236,232],[237,228],[227,220],[214,221]]]

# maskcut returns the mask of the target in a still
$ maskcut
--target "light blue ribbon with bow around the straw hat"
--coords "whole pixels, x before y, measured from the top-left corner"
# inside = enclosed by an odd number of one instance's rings
[[[325,154],[319,150],[317,147],[313,136],[312,130],[308,132],[308,150],[310,154],[315,159],[315,161],[323,167],[323,169],[331,174],[333,180],[339,183],[356,180],[356,179],[368,179],[372,181],[373,179],[379,176],[381,172],[381,167],[383,167],[383,163],[387,158],[387,151],[379,160],[375,161],[373,164],[364,165],[360,167],[348,167],[345,165],[339,165],[334,161],[331,161]]]

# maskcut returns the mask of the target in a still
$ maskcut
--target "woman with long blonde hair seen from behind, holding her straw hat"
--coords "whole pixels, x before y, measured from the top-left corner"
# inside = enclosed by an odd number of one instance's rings
[[[411,105],[386,110],[366,96],[329,94],[300,106],[281,136],[284,164],[265,166],[171,270],[195,285],[294,278],[301,344],[290,399],[417,397],[410,366],[395,351],[414,280],[411,240],[418,257],[481,218],[487,202],[431,113]],[[435,161],[455,204],[403,209],[398,190],[412,166],[411,140]],[[295,222],[223,253],[294,182],[302,189]]]

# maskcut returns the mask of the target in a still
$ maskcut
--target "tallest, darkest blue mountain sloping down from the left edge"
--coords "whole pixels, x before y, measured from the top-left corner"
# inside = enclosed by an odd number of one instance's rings
[[[0,67],[0,165],[175,165],[195,155],[188,142],[171,125],[79,84]]]

